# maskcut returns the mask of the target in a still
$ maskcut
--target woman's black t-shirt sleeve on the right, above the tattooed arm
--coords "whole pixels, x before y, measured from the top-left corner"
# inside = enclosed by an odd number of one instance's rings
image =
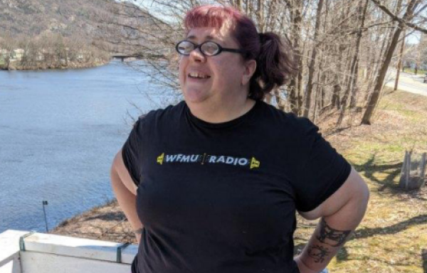
[[[305,156],[294,183],[297,210],[314,210],[347,180],[352,166],[326,141],[319,128],[310,119],[299,118],[302,123]],[[307,146],[306,146],[307,145]]]

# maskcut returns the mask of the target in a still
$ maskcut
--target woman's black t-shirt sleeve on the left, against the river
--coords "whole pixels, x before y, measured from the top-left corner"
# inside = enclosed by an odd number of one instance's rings
[[[135,185],[139,185],[142,163],[142,141],[143,141],[144,116],[139,117],[135,122],[125,144],[122,147],[122,158],[130,177]]]

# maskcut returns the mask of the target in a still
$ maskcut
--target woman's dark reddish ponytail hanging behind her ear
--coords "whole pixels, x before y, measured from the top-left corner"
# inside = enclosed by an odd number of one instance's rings
[[[284,85],[295,73],[289,45],[273,32],[259,33],[259,37],[260,53],[255,58],[256,70],[249,87],[249,97],[253,100],[263,100],[265,94]]]

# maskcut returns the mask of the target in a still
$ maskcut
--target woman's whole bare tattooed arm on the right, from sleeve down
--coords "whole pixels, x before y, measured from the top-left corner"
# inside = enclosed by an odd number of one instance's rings
[[[322,271],[348,240],[367,210],[369,189],[352,168],[347,181],[315,210],[299,212],[307,220],[321,218],[302,253],[295,257],[301,273]]]

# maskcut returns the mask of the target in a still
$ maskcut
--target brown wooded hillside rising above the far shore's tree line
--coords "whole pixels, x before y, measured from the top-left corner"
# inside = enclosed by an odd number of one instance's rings
[[[0,41],[59,34],[87,45],[95,41],[110,52],[133,53],[129,41],[143,44],[153,25],[162,22],[130,1],[0,0]]]

